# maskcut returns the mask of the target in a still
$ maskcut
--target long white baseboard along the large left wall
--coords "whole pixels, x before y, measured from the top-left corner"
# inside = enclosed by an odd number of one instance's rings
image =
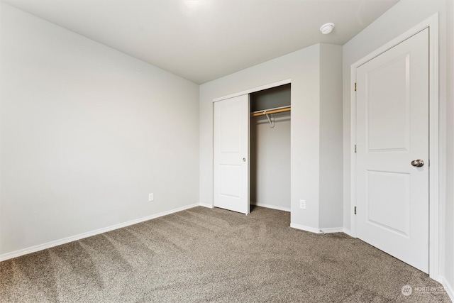
[[[191,205],[187,205],[187,206],[182,206],[182,207],[179,207],[177,209],[171,209],[170,211],[163,211],[163,212],[161,212],[159,214],[153,214],[151,216],[145,216],[143,218],[127,221],[127,222],[124,222],[124,223],[121,223],[121,224],[116,224],[116,225],[112,225],[112,226],[108,226],[108,227],[104,227],[104,228],[99,228],[99,229],[96,229],[95,231],[89,231],[87,233],[80,233],[79,235],[76,235],[76,236],[70,236],[70,237],[67,237],[67,238],[62,238],[60,240],[51,241],[51,242],[48,242],[48,243],[43,243],[43,244],[40,244],[40,245],[37,245],[37,246],[32,246],[32,247],[29,247],[29,248],[23,248],[21,250],[16,250],[16,251],[13,251],[11,253],[4,253],[4,254],[0,255],[0,262],[4,261],[4,260],[12,259],[12,258],[17,258],[17,257],[20,257],[21,255],[26,255],[28,253],[35,253],[35,252],[37,252],[39,250],[52,248],[54,246],[59,246],[59,245],[62,245],[62,244],[70,243],[72,241],[77,241],[77,240],[80,240],[82,238],[96,236],[96,235],[99,235],[99,233],[106,233],[107,231],[114,231],[115,229],[118,229],[118,228],[123,228],[123,227],[126,227],[126,226],[138,224],[140,222],[148,221],[148,220],[151,220],[151,219],[156,219],[156,218],[159,218],[160,216],[167,216],[168,214],[174,214],[174,213],[176,213],[178,211],[184,211],[186,209],[192,209],[193,207],[196,207],[196,206],[200,206],[200,204],[197,203],[197,204],[191,204]]]

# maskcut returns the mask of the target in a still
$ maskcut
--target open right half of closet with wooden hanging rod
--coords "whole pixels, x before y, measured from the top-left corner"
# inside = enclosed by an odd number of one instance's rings
[[[291,84],[250,94],[250,206],[290,211]]]

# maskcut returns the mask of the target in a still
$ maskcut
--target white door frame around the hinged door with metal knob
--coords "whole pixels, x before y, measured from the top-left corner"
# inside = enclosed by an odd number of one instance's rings
[[[428,243],[428,272],[429,276],[438,280],[438,253],[439,236],[438,229],[440,206],[439,201],[439,143],[438,143],[438,14],[409,29],[397,38],[389,41],[382,47],[366,55],[350,66],[350,236],[357,237],[355,206],[356,201],[356,69],[365,62],[393,48],[395,45],[429,28],[429,243]]]

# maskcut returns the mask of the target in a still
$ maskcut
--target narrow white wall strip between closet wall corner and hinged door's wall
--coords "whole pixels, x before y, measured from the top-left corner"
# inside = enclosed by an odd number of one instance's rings
[[[320,228],[343,222],[342,46],[320,45]]]

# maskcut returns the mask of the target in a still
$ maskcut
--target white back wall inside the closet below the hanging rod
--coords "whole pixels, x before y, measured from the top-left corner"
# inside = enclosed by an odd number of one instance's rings
[[[250,201],[258,206],[290,211],[290,114],[250,121]]]

